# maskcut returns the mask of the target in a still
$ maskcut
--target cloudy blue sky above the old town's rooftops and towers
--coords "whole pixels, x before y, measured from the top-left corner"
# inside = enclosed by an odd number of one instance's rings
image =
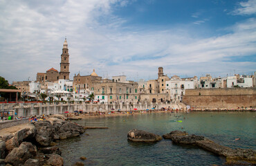
[[[0,0],[0,76],[213,77],[256,71],[256,0]]]

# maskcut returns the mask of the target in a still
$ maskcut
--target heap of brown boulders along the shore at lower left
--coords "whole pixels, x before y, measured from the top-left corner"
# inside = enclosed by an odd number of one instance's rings
[[[0,137],[0,165],[63,165],[62,153],[54,141],[81,133],[84,127],[60,115],[29,122],[24,129]]]

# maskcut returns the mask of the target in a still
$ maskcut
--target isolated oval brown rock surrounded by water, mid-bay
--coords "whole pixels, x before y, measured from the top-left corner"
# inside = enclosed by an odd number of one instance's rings
[[[161,136],[138,129],[132,129],[129,131],[127,138],[134,142],[157,142],[162,140]]]

